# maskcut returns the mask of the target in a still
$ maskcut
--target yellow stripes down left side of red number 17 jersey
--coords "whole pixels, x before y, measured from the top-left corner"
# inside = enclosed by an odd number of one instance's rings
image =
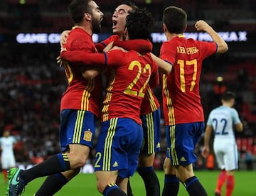
[[[166,105],[168,107],[168,119],[169,119],[169,126],[175,124],[175,115],[174,115],[174,107],[172,104],[172,100],[167,89],[167,78],[166,75],[163,75],[163,90],[164,94],[166,95]]]

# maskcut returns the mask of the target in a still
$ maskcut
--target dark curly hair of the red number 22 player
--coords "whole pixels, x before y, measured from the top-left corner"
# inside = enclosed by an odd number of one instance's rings
[[[150,39],[154,18],[146,9],[138,9],[137,11],[129,12],[125,26],[129,33],[129,39]]]

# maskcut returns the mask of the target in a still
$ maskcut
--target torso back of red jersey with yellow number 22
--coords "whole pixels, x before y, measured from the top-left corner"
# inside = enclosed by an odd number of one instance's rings
[[[131,118],[141,124],[140,106],[152,72],[157,72],[151,55],[112,50],[107,54],[109,84],[102,109],[102,119]]]

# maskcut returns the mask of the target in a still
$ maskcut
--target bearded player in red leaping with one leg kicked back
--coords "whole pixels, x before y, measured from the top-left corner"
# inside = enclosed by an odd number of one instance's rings
[[[101,30],[103,13],[99,6],[91,0],[74,0],[70,3],[69,10],[75,28],[68,37],[66,47],[68,50],[97,53],[92,33],[100,33]],[[7,195],[21,195],[27,183],[47,175],[46,182],[36,195],[53,195],[85,165],[100,114],[102,82],[100,75],[94,80],[85,80],[80,68],[75,63],[65,66],[68,88],[60,103],[60,144],[63,153],[58,153],[29,170],[11,169]],[[48,189],[48,186],[51,188]]]

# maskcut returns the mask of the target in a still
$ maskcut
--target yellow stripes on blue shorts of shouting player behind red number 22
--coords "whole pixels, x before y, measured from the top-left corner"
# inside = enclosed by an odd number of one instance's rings
[[[154,153],[154,119],[153,114],[146,114],[148,153]]]

